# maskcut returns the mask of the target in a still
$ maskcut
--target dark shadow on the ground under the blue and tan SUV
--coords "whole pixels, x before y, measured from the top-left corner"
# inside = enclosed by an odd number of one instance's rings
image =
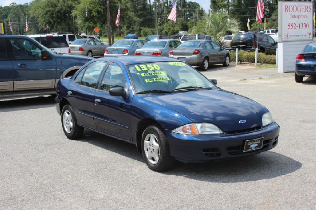
[[[56,96],[42,96],[0,101],[0,112],[11,112],[53,107],[55,97]]]

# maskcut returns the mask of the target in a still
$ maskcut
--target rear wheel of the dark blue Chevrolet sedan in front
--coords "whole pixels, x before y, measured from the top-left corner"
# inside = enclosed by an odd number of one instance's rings
[[[73,108],[71,105],[65,105],[61,112],[61,124],[68,139],[79,139],[83,135],[84,128],[77,124]]]

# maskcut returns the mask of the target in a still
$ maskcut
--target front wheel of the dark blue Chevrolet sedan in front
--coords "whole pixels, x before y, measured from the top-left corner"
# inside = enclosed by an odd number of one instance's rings
[[[165,171],[170,169],[175,160],[170,156],[167,137],[155,125],[150,125],[142,135],[142,153],[148,168],[153,171]]]

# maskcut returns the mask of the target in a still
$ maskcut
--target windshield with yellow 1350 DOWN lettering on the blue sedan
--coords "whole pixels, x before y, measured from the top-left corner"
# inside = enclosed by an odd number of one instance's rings
[[[165,93],[212,89],[207,78],[183,62],[154,62],[128,65],[137,93]]]

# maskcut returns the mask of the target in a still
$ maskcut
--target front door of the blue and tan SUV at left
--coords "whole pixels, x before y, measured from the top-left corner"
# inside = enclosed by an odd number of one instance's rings
[[[14,71],[14,91],[53,89],[56,81],[56,59],[41,59],[42,48],[35,41],[9,38]]]

